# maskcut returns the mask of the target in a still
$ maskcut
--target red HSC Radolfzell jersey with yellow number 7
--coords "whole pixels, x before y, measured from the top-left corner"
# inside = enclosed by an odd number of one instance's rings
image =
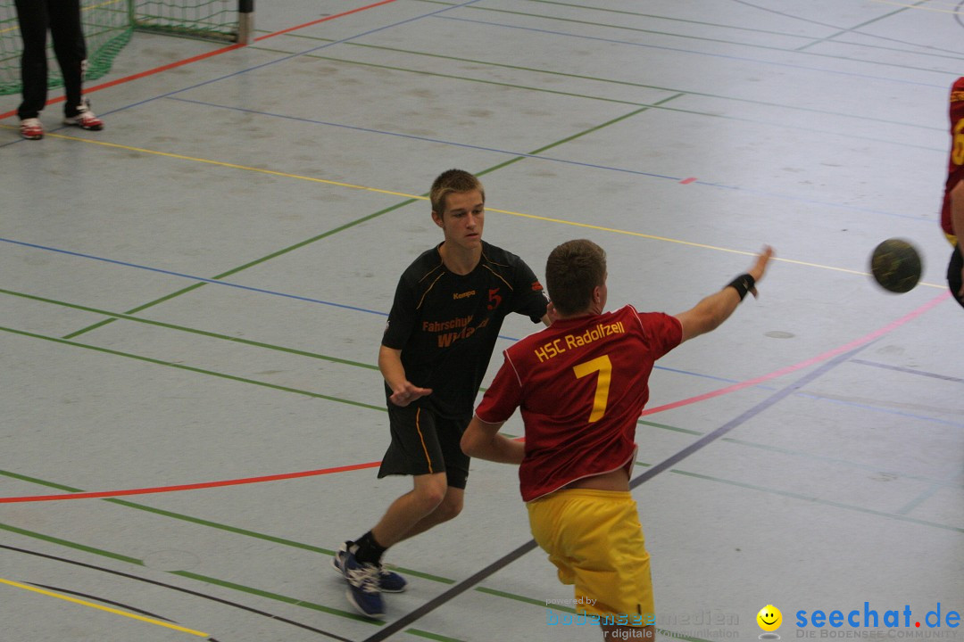
[[[682,338],[674,317],[627,305],[555,321],[505,350],[475,414],[495,424],[521,406],[523,501],[630,465],[653,364]]]

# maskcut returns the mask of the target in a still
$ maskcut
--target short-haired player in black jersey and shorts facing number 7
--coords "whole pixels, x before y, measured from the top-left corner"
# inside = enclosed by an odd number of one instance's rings
[[[385,614],[382,592],[405,590],[404,578],[382,568],[388,547],[462,510],[469,457],[460,441],[502,321],[516,312],[549,325],[533,271],[482,241],[485,191],[478,178],[449,169],[429,199],[444,238],[402,273],[378,358],[391,431],[378,476],[413,475],[414,488],[333,560],[348,580],[349,602],[369,617]]]

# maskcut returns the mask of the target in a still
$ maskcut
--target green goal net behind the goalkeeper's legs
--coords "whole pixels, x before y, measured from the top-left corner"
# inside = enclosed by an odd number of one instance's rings
[[[110,71],[134,30],[247,42],[253,29],[254,0],[81,0],[80,13],[87,42],[85,82],[90,82]],[[0,0],[0,95],[20,91],[21,50],[13,0]],[[47,86],[63,87],[49,34],[47,59]]]

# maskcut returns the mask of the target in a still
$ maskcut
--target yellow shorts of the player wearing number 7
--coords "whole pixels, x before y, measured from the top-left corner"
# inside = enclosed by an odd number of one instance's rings
[[[526,504],[536,542],[563,584],[575,584],[576,611],[654,624],[650,554],[628,492],[573,488]]]

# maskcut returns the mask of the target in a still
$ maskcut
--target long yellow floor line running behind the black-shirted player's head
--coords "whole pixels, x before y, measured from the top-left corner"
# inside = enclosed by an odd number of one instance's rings
[[[0,127],[13,129],[10,125],[0,125]],[[204,165],[213,165],[216,167],[229,167],[231,169],[244,169],[246,171],[254,171],[260,174],[268,174],[269,176],[281,176],[283,178],[295,178],[303,181],[310,181],[312,183],[320,183],[322,185],[334,185],[335,187],[349,188],[352,190],[362,190],[364,192],[374,192],[374,193],[384,193],[392,196],[401,196],[403,198],[413,198],[417,200],[428,200],[427,196],[421,196],[412,193],[404,192],[393,192],[391,190],[380,190],[378,188],[369,188],[363,185],[355,185],[352,183],[341,183],[338,181],[330,181],[324,178],[315,178],[313,176],[304,176],[302,174],[290,174],[283,171],[276,171],[274,169],[264,169],[263,167],[250,167],[245,165],[237,165],[234,163],[226,163],[224,161],[212,161],[210,159],[198,158],[196,156],[185,156],[183,154],[173,154],[171,152],[157,151],[154,149],[145,149],[144,147],[133,147],[131,145],[123,145],[118,142],[108,142],[108,141],[94,141],[92,139],[82,139],[76,136],[67,136],[65,134],[46,134],[51,138],[64,139],[66,141],[80,141],[89,142],[91,144],[103,145],[105,147],[114,147],[116,149],[124,149],[127,151],[137,151],[143,154],[150,154],[154,156],[163,156],[166,158],[174,158],[181,161],[194,161],[195,163],[203,163]],[[653,234],[644,234],[643,232],[631,232],[629,230],[621,230],[614,227],[603,227],[601,225],[592,225],[590,223],[580,223],[575,220],[564,220],[562,218],[549,218],[540,217],[534,214],[523,214],[522,212],[513,212],[512,210],[498,210],[492,207],[487,207],[486,212],[495,212],[498,214],[506,214],[510,217],[520,217],[520,218],[532,218],[534,220],[544,220],[550,223],[559,223],[560,225],[571,225],[573,227],[584,227],[586,229],[598,230],[601,232],[612,232],[613,234],[625,234],[627,236],[633,236],[640,239],[651,239],[653,241],[662,241],[665,243],[674,243],[681,245],[689,245],[690,247],[702,247],[704,249],[711,249],[718,252],[729,252],[731,254],[741,254],[744,256],[756,256],[757,252],[750,252],[742,249],[733,249],[730,247],[720,247],[718,245],[708,245],[701,243],[693,243],[691,241],[682,241],[680,239],[670,239],[667,237],[655,236]],[[778,256],[773,257],[773,261],[780,261],[782,263],[790,263],[797,266],[805,266],[808,268],[818,268],[820,270],[833,270],[838,272],[845,272],[847,274],[857,274],[859,276],[870,276],[870,272],[860,271],[860,270],[847,270],[846,268],[835,268],[833,266],[825,266],[819,263],[808,263],[806,261],[795,261],[793,259],[782,259]],[[945,286],[936,283],[925,283],[921,282],[918,285],[927,286],[929,288],[944,288]]]

